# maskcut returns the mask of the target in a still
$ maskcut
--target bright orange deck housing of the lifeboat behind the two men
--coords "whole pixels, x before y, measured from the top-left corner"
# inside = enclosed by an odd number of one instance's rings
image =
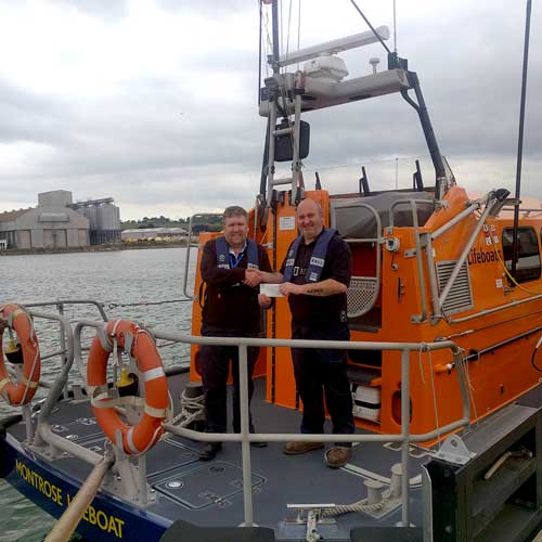
[[[360,194],[356,194],[360,197]],[[415,193],[413,197],[415,196]],[[333,197],[326,191],[307,192],[306,197],[317,199],[324,209],[324,223],[330,225]],[[341,196],[343,197],[343,196]],[[287,198],[286,198],[287,199]],[[420,235],[435,233],[450,219],[463,211],[469,199],[466,192],[452,186],[444,196],[446,205],[435,210],[418,227]],[[479,221],[480,212],[473,212],[446,233],[433,241],[435,267],[456,261]],[[295,206],[287,201],[279,203],[266,229],[256,231],[256,241],[269,244],[270,260],[280,268],[286,250],[297,234],[293,227]],[[429,269],[423,258],[421,276],[415,256],[413,225],[383,228],[386,240],[396,240],[399,249],[380,253],[380,287],[373,308],[366,314],[350,320],[351,340],[431,343],[449,338],[464,349],[470,385],[472,420],[479,420],[511,402],[539,382],[539,372],[529,359],[542,333],[542,279],[539,276],[519,287],[511,287],[503,269],[503,230],[512,228],[512,218],[502,212],[488,217],[470,248],[466,264],[472,307],[444,318],[431,318]],[[255,236],[254,210],[250,214],[250,236]],[[540,251],[540,218],[522,217],[520,227],[537,231]],[[489,232],[489,233],[488,233]],[[199,237],[201,247],[217,234]],[[488,242],[488,237],[491,237]],[[353,275],[374,275],[376,246],[351,244]],[[500,250],[500,258],[495,254]],[[197,268],[199,267],[201,250]],[[540,258],[540,257],[539,257]],[[540,260],[539,260],[540,261]],[[196,272],[194,293],[199,293],[201,276]],[[441,291],[442,288],[440,288]],[[528,289],[529,292],[527,292]],[[423,314],[421,293],[426,295],[426,318]],[[440,293],[440,292],[439,292]],[[193,306],[192,333],[199,334],[201,308]],[[276,299],[273,310],[267,312],[267,336],[291,337],[291,315],[285,298]],[[386,434],[400,433],[401,366],[400,353],[391,351],[350,351],[349,364],[365,374],[366,386],[377,389],[380,397],[378,420],[357,418],[360,427]],[[541,354],[542,356],[542,354]],[[192,347],[191,378],[198,379],[195,359],[197,348]],[[457,378],[451,365],[452,357],[444,350],[413,352],[411,354],[411,433],[425,434],[461,417],[462,403]],[[542,364],[542,363],[541,363]],[[267,400],[287,408],[299,405],[294,380],[292,358],[287,348],[267,348],[260,354],[257,374],[267,378]],[[369,378],[366,375],[369,374]],[[264,431],[264,428],[262,427]]]

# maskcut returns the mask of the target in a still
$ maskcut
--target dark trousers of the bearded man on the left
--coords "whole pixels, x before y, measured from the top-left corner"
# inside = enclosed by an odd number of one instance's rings
[[[248,404],[254,392],[253,373],[260,349],[247,348]],[[230,361],[233,374],[233,431],[241,431],[238,350],[234,346],[199,347],[202,380],[205,393],[205,416],[207,431],[227,431],[227,384]],[[250,411],[249,411],[250,412]],[[253,422],[250,417],[250,428]]]

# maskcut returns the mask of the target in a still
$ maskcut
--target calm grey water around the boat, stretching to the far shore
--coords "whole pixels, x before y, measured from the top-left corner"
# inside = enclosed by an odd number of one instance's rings
[[[185,248],[158,248],[0,257],[0,304],[95,299],[107,304],[109,318],[134,319],[150,327],[190,333],[190,302],[108,306],[183,298],[185,254]],[[195,250],[192,250],[190,278],[194,275],[194,263]],[[191,292],[192,282],[189,282],[189,285]],[[95,309],[79,307],[67,311],[66,314],[70,320],[99,320]],[[36,330],[42,352],[57,346],[57,332],[48,333],[51,325],[36,321]],[[189,347],[182,345],[166,347],[160,353],[166,365],[183,364],[189,360]],[[42,375],[51,378],[57,371],[56,360],[43,362]],[[10,409],[1,402],[0,416],[9,412]],[[0,480],[0,529],[3,542],[42,541],[52,524],[51,516]]]

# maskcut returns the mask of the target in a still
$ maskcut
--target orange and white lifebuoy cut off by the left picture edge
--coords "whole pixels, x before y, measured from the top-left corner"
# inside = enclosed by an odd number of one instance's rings
[[[22,405],[31,401],[39,385],[41,358],[36,332],[34,331],[30,314],[15,304],[0,307],[0,395],[9,404]],[[23,374],[21,382],[12,382],[3,359],[3,330],[4,326],[13,330],[18,337],[23,351]]]

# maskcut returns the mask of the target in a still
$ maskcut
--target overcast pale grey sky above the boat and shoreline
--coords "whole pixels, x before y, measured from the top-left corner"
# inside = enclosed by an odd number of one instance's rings
[[[366,29],[349,0],[281,3],[283,50]],[[391,0],[359,5],[392,29]],[[258,11],[258,0],[0,0],[0,211],[57,189],[112,196],[122,219],[251,206],[266,128]],[[470,191],[514,188],[525,15],[524,0],[397,0],[399,53]],[[533,2],[522,193],[542,198],[541,15]],[[372,56],[385,65],[379,44],[343,54],[351,76],[370,73]],[[305,119],[309,186],[318,170],[332,192],[353,191],[362,165],[372,186],[392,188],[396,170],[405,186],[427,156],[397,94]],[[423,173],[431,184],[426,159]]]

